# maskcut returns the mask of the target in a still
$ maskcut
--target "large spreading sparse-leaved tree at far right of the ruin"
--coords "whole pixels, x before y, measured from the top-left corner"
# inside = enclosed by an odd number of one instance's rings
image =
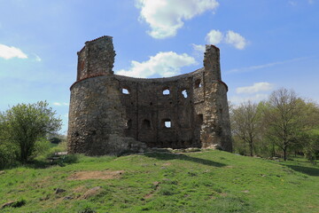
[[[279,89],[273,91],[264,107],[267,136],[276,144],[287,160],[287,151],[300,141],[302,132],[309,130],[315,122],[307,103],[297,97],[294,91]]]

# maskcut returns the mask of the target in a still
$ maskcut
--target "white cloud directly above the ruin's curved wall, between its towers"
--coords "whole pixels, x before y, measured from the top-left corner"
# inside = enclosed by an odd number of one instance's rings
[[[131,67],[128,70],[121,69],[116,74],[144,78],[152,75],[168,77],[179,75],[181,67],[195,64],[196,60],[186,53],[177,54],[174,51],[159,51],[155,56],[151,56],[149,60],[143,62],[132,60]]]

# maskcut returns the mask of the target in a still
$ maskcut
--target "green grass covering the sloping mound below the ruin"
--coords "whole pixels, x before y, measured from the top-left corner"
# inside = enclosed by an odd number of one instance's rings
[[[117,170],[121,175],[111,179],[69,179],[79,171]],[[83,199],[95,186],[102,188]],[[64,167],[5,170],[0,205],[8,201],[25,205],[0,212],[319,212],[319,166],[222,151],[81,156]]]

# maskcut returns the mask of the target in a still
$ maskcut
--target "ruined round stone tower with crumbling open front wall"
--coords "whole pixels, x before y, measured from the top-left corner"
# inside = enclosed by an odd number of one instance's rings
[[[121,154],[145,146],[231,151],[228,88],[217,47],[206,45],[203,68],[167,78],[114,75],[114,57],[111,36],[86,42],[78,52],[70,153]]]

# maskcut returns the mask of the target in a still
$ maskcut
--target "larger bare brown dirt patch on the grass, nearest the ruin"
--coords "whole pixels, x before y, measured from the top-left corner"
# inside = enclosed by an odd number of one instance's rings
[[[105,171],[78,171],[68,177],[69,180],[85,180],[85,179],[114,179],[119,178],[124,170],[105,170]]]

